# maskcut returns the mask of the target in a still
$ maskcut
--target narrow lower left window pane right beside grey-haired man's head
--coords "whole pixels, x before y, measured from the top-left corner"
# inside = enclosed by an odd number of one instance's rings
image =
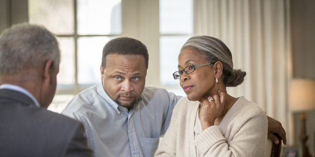
[[[73,85],[74,80],[74,39],[72,37],[58,37],[61,51],[59,73],[57,75],[58,88],[63,85]]]

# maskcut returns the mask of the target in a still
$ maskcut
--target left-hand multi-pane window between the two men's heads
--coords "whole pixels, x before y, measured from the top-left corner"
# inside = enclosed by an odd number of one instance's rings
[[[60,72],[54,111],[100,82],[102,48],[122,33],[121,0],[29,0],[29,22],[56,34]]]

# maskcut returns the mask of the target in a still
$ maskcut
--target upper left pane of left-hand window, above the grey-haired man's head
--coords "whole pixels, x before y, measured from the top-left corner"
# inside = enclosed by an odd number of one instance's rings
[[[55,34],[73,34],[73,17],[73,0],[29,0],[29,22]]]

